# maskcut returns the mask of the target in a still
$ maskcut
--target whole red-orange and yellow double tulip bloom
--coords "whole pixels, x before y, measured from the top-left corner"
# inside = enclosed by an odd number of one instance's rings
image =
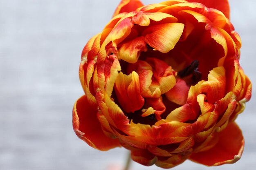
[[[145,166],[235,163],[244,148],[235,119],[252,94],[240,47],[227,0],[122,0],[83,49],[76,135]]]

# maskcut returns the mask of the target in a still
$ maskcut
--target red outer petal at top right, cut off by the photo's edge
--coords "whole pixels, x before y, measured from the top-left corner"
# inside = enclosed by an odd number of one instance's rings
[[[186,0],[188,2],[199,2],[208,8],[215,8],[222,11],[229,18],[229,1],[228,0]]]

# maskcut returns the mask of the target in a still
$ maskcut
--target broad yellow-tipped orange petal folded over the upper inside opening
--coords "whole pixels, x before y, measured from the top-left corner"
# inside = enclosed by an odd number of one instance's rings
[[[143,34],[145,42],[162,53],[167,53],[179,41],[184,29],[182,23],[167,23],[149,26]]]

